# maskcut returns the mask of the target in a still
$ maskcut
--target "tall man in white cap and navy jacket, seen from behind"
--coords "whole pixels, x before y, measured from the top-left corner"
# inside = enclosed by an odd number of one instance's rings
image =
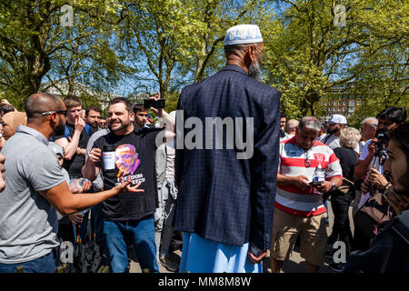
[[[178,136],[191,140],[195,133],[194,148],[176,140],[175,230],[184,233],[180,272],[262,272],[271,246],[280,129],[280,93],[258,81],[263,48],[257,25],[229,28],[227,64],[180,95]],[[177,115],[195,117],[203,126],[180,128]],[[214,127],[219,131],[212,138],[208,130]],[[237,143],[240,136],[246,136],[245,146]]]

